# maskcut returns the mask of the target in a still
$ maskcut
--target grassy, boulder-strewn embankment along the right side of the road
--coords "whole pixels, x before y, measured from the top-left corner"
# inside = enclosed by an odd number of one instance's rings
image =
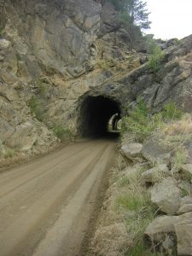
[[[122,139],[87,255],[192,255],[191,120]]]

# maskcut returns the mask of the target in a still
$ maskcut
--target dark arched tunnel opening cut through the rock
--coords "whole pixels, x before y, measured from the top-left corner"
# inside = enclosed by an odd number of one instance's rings
[[[81,104],[79,134],[81,137],[107,137],[114,135],[116,125],[108,129],[110,119],[120,119],[119,103],[105,96],[87,96]],[[117,132],[116,132],[117,135]]]

